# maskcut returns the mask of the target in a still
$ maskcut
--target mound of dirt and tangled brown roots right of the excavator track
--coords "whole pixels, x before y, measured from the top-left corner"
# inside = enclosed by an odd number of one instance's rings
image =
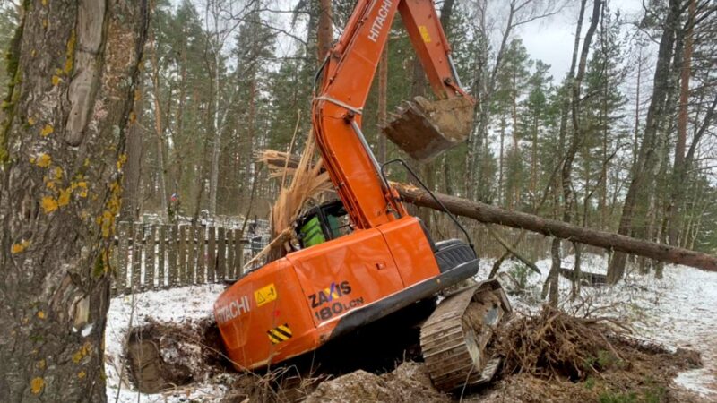
[[[500,380],[470,401],[703,401],[672,380],[701,366],[699,354],[635,339],[612,318],[575,317],[545,306],[500,331]]]

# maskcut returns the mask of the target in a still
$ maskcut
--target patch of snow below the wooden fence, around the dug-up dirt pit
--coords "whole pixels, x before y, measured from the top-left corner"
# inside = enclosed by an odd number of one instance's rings
[[[108,323],[105,330],[105,373],[107,374],[107,396],[109,402],[175,402],[214,401],[223,396],[220,385],[192,385],[183,390],[147,395],[132,390],[123,368],[124,346],[127,330],[142,325],[149,319],[160,322],[185,322],[212,315],[212,305],[224,286],[180,287],[161,291],[148,291],[133,296],[117,296],[109,304]],[[134,306],[134,313],[133,313]],[[120,375],[121,373],[121,375]],[[120,382],[120,377],[122,382]],[[122,385],[121,389],[119,385]],[[118,399],[117,399],[118,395]]]

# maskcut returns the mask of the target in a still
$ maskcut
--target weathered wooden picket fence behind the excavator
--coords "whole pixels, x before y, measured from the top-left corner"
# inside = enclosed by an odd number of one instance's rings
[[[263,244],[238,229],[117,223],[115,295],[238,279]]]

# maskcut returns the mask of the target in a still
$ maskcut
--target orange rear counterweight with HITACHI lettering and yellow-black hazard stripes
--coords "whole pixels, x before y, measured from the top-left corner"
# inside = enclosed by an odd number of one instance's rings
[[[314,322],[286,259],[240,279],[214,303],[214,316],[238,370],[279,362],[318,346]]]

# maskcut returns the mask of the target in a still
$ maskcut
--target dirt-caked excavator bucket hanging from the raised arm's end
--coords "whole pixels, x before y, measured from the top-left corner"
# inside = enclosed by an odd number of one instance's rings
[[[416,97],[399,108],[383,131],[411,158],[428,161],[465,141],[472,116],[473,104],[463,97],[434,102]]]

